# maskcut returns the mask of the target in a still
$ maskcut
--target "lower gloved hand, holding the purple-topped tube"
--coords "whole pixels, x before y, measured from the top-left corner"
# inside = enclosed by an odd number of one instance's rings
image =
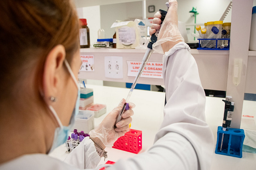
[[[105,146],[113,146],[114,142],[116,142],[119,137],[124,136],[125,133],[128,132],[129,124],[132,120],[130,116],[134,114],[132,109],[135,107],[135,105],[133,103],[128,103],[129,110],[123,113],[122,119],[116,124],[117,127],[114,127],[117,115],[122,110],[125,102],[126,100],[122,99],[118,107],[108,113],[108,115],[102,120],[98,127],[90,131],[90,137],[93,138],[101,146],[102,143]],[[105,148],[104,146],[102,147]]]

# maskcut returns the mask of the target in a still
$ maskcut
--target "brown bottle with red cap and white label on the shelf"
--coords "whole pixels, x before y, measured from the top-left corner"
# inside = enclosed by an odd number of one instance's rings
[[[80,48],[90,48],[90,29],[87,26],[86,19],[80,19],[82,28],[80,28],[79,39]]]

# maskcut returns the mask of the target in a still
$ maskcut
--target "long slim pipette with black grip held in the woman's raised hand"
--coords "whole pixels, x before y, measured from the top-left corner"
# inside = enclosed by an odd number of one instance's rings
[[[166,2],[165,4],[166,4],[167,8],[169,8],[169,3]],[[161,24],[162,24],[162,22],[163,22],[163,20],[164,20],[164,18],[165,18],[165,16],[166,16],[166,14],[167,14],[167,12],[164,11],[164,10],[161,10],[161,9],[159,10],[159,12],[160,12],[160,14],[161,14],[161,18],[160,18],[160,19],[161,19]],[[160,25],[161,25],[161,24],[160,24]],[[131,96],[131,93],[132,93],[133,89],[134,89],[135,86],[137,85],[138,80],[139,80],[141,74],[143,73],[145,66],[146,66],[147,63],[148,63],[151,54],[154,52],[152,46],[153,46],[153,44],[154,44],[155,42],[157,42],[157,40],[158,40],[159,31],[160,31],[160,29],[157,30],[154,34],[152,34],[152,36],[151,36],[151,38],[150,38],[150,42],[148,43],[147,51],[146,51],[146,53],[145,53],[145,55],[144,55],[144,57],[143,57],[143,59],[142,59],[140,68],[139,68],[139,70],[138,70],[138,74],[137,74],[136,78],[134,79],[134,82],[133,82],[133,84],[131,85],[130,91],[129,91],[128,96],[127,96],[127,98],[126,98],[126,103],[124,104],[122,110],[120,110],[120,112],[119,112],[119,114],[118,114],[118,116],[117,116],[117,119],[116,119],[116,122],[115,122],[115,127],[116,127],[116,124],[122,119],[122,114],[123,114],[126,110],[129,109],[129,108],[128,108],[128,107],[129,107],[129,106],[128,106],[129,98],[130,98],[130,96]]]

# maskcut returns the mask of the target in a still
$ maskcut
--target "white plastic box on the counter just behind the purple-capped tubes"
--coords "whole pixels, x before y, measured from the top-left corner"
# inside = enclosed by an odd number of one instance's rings
[[[73,129],[89,134],[89,132],[94,129],[94,112],[79,110],[78,115],[75,116]]]

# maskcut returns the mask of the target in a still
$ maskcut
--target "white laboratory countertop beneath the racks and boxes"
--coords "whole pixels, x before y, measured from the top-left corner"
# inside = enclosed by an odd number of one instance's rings
[[[128,88],[109,87],[100,85],[87,85],[88,88],[94,89],[94,103],[106,104],[107,113],[114,109],[122,98],[128,95]],[[142,131],[142,150],[140,153],[147,151],[154,142],[155,135],[160,128],[163,119],[165,93],[157,91],[133,90],[130,97],[130,102],[133,102],[136,107],[133,109],[131,129]],[[206,97],[206,122],[209,124],[215,142],[217,140],[217,128],[222,125],[224,102],[223,98]],[[97,126],[106,114],[95,118],[95,126]],[[115,148],[107,147],[107,160],[118,161],[118,159],[128,159],[134,154],[122,151]],[[64,160],[68,155],[65,153],[64,145],[56,148],[50,156]],[[214,153],[214,150],[213,150]],[[106,161],[101,159],[99,164],[104,164]],[[211,170],[255,170],[256,169],[256,154],[243,152],[243,158],[235,158],[219,154],[213,154]]]

